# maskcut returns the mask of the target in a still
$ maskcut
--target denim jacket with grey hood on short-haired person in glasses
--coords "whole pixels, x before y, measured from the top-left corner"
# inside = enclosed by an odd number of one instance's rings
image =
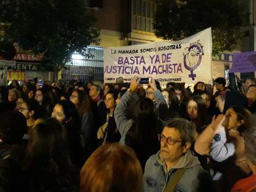
[[[160,151],[151,156],[145,165],[144,173],[144,191],[145,192],[161,192],[166,187],[167,183],[173,177],[177,169],[186,169],[181,180],[177,183],[174,191],[198,191],[200,179],[208,173],[203,170],[191,151],[186,152],[181,157],[179,162],[170,170],[166,170],[164,162],[160,159]]]

